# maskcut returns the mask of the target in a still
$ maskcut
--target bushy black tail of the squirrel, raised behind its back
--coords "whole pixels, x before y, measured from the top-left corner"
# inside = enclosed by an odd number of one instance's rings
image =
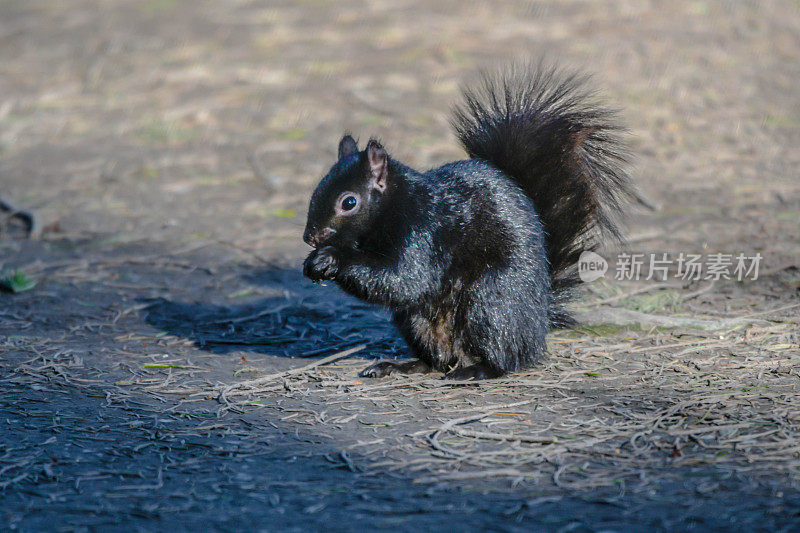
[[[564,304],[580,283],[580,254],[604,234],[619,238],[623,207],[638,197],[625,170],[624,130],[584,76],[539,62],[481,81],[464,91],[451,123],[470,157],[503,171],[533,200],[550,261],[550,322],[573,324]]]

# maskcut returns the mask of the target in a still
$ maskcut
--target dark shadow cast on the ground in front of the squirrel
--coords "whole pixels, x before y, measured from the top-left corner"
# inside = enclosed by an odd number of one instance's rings
[[[151,301],[146,321],[220,354],[250,351],[311,357],[364,342],[370,346],[365,355],[405,351],[385,312],[336,287],[313,286],[292,270],[276,268],[251,271],[242,279],[266,288],[270,296],[238,305],[159,299]]]

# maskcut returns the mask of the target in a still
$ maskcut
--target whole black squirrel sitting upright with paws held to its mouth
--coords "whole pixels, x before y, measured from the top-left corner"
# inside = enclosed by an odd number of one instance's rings
[[[363,377],[499,377],[545,353],[576,263],[638,194],[624,130],[586,78],[543,63],[484,74],[451,124],[470,159],[421,173],[345,135],[311,197],[303,273],[388,306],[415,359]]]

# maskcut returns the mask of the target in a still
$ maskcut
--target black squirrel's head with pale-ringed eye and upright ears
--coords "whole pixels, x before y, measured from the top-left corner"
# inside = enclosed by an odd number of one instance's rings
[[[342,137],[339,160],[311,196],[303,240],[314,248],[358,248],[374,231],[388,182],[389,155],[378,141],[359,152],[350,135]]]

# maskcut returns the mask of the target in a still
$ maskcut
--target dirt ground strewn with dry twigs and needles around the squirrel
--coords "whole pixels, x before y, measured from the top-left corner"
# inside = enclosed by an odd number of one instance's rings
[[[631,129],[625,249],[758,279],[607,278],[528,372],[359,379],[402,341],[299,268],[339,136],[461,158],[459,84],[542,54]],[[799,79],[791,1],[0,3],[43,229],[0,213],[3,529],[800,529]]]

